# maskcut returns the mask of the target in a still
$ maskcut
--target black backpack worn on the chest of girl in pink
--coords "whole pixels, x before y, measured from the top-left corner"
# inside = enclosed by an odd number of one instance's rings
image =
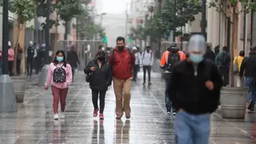
[[[61,67],[56,66],[56,69],[54,70],[53,81],[55,83],[63,83],[65,82],[65,79],[66,79],[66,73],[65,73],[65,69],[63,68],[63,65]]]

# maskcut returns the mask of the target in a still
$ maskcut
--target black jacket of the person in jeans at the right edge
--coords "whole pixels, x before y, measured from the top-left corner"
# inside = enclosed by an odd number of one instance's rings
[[[243,76],[243,71],[245,77],[256,77],[256,54],[249,54],[248,57],[243,58],[239,76]]]

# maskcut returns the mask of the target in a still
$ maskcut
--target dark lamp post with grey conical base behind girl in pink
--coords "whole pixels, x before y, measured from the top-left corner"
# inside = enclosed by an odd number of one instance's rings
[[[47,9],[46,9],[46,24],[45,24],[45,44],[46,44],[46,52],[44,56],[44,67],[41,70],[41,75],[39,78],[39,86],[44,85],[46,81],[46,77],[48,75],[48,69],[50,64],[49,59],[49,49],[50,49],[50,0],[47,0]]]

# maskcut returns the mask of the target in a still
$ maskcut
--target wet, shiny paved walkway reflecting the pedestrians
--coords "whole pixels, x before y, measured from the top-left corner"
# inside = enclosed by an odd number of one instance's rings
[[[142,78],[140,73],[139,78]],[[52,95],[29,81],[24,104],[17,113],[0,113],[1,144],[169,144],[175,143],[173,119],[165,115],[165,83],[153,74],[150,87],[141,79],[132,87],[130,120],[115,119],[115,96],[107,91],[105,119],[92,117],[91,90],[84,75],[77,75],[66,101],[65,119],[53,120]],[[212,115],[210,143],[255,143],[256,115],[245,120],[222,119]]]

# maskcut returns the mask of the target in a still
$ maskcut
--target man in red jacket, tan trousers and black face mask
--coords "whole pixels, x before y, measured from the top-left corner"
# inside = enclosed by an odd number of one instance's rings
[[[135,57],[130,49],[125,48],[123,37],[118,37],[117,47],[110,54],[109,63],[112,65],[113,87],[116,95],[116,118],[121,119],[124,111],[126,118],[129,119]]]

